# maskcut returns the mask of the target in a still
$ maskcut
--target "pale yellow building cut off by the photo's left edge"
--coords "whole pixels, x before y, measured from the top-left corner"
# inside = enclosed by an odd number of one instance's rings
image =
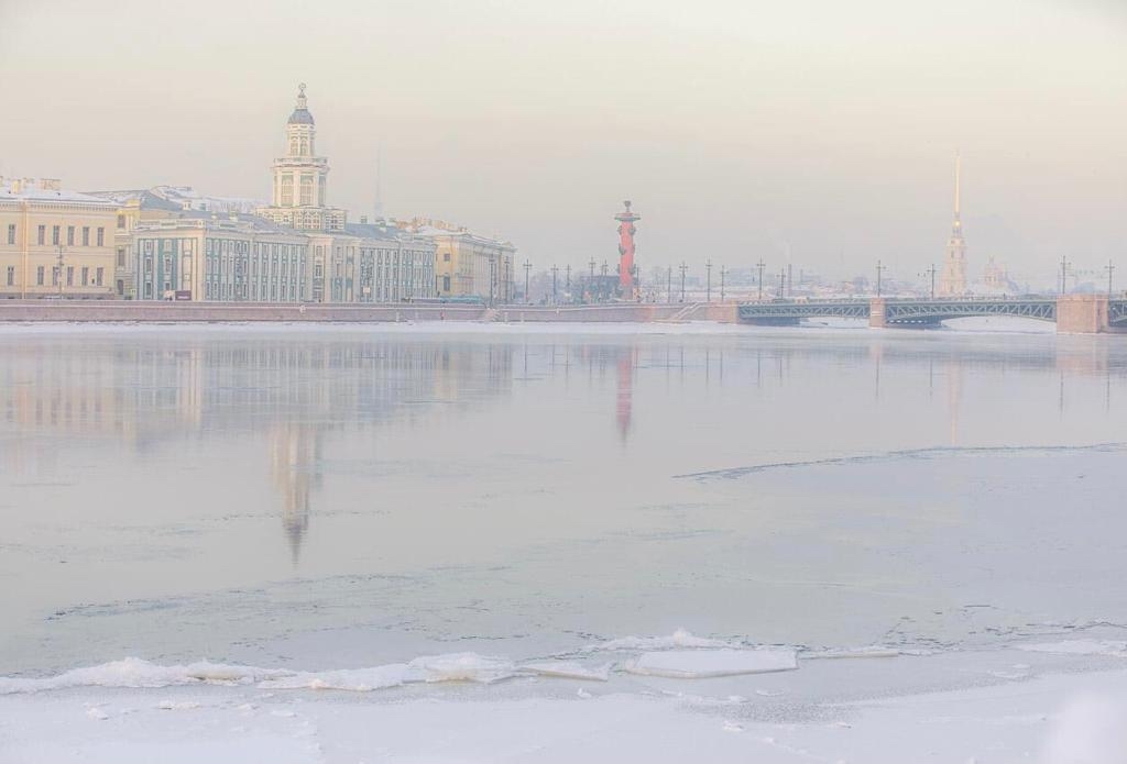
[[[114,295],[116,206],[57,180],[0,183],[0,297]]]

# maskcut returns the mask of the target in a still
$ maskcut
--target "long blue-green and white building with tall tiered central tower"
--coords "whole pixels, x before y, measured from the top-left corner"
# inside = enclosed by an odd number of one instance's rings
[[[123,281],[137,299],[383,303],[434,297],[435,243],[384,223],[349,224],[326,206],[328,161],[314,156],[304,86],[274,163],[274,204],[186,187],[101,191],[124,204]],[[136,209],[135,218],[131,217]],[[255,214],[247,214],[254,210]]]

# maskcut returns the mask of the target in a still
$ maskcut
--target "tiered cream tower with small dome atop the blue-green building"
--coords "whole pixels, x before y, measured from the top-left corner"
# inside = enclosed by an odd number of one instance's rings
[[[258,214],[301,231],[344,231],[345,210],[327,206],[329,161],[317,156],[316,137],[302,83],[285,126],[286,155],[274,160],[274,203],[260,207]]]

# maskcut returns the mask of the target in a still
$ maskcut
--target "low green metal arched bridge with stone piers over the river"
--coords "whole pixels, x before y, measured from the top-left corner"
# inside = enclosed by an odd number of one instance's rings
[[[1048,321],[1058,332],[1127,331],[1127,296],[791,299],[739,305],[740,323],[793,325],[805,318],[861,318],[875,327],[939,326],[949,318],[1015,316]]]

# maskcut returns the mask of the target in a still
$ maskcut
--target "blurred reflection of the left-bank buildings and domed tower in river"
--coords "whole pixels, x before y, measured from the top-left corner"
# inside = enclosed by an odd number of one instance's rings
[[[0,423],[16,435],[0,439],[6,471],[56,471],[57,455],[78,440],[158,453],[258,435],[295,564],[332,431],[447,415],[503,397],[513,383],[514,347],[504,343],[137,339],[78,352],[72,339],[6,348]]]

